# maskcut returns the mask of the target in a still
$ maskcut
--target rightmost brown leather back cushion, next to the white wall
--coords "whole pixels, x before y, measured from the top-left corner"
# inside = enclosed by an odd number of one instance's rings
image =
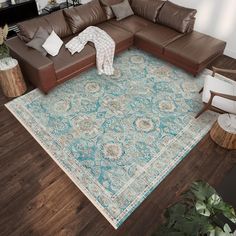
[[[196,15],[197,10],[176,5],[166,1],[161,8],[157,22],[169,26],[180,33],[186,33],[189,30],[189,24]],[[192,26],[193,28],[193,26]]]

